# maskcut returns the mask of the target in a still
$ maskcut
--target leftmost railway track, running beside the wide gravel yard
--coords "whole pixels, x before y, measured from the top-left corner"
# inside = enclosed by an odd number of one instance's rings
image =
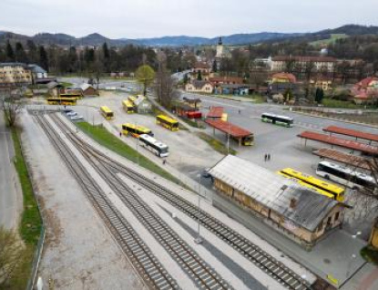
[[[93,180],[82,163],[77,160],[71,150],[66,148],[66,144],[56,137],[56,131],[46,122],[46,119],[38,115],[36,119],[148,287],[150,289],[179,289],[177,282],[158,262],[123,215],[107,199],[105,193],[98,188],[97,182]]]

